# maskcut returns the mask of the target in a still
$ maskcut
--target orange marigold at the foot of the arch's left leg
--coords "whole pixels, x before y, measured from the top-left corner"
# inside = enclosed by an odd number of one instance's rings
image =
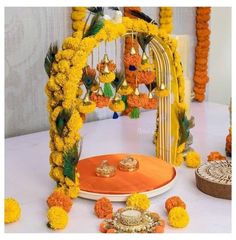
[[[72,200],[63,192],[53,192],[47,200],[48,207],[62,207],[66,212],[69,212],[72,207]]]

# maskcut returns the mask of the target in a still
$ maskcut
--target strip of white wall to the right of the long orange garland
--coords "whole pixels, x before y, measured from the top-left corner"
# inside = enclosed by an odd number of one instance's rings
[[[207,100],[229,104],[231,97],[231,8],[213,7]]]

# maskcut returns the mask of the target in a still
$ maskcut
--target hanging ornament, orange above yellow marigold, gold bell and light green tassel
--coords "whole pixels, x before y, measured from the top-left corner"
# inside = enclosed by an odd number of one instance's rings
[[[106,53],[106,43],[105,43],[105,54],[103,60],[98,63],[97,70],[99,71],[99,81],[104,83],[104,95],[105,97],[112,97],[113,91],[111,88],[111,82],[115,79],[115,71],[116,64],[109,60],[108,55]]]

